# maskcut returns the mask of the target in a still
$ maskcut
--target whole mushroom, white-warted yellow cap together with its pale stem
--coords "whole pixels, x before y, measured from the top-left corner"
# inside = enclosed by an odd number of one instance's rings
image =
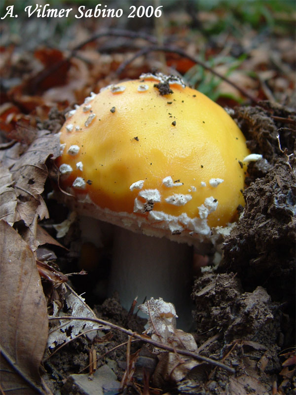
[[[64,201],[117,226],[110,294],[126,309],[162,297],[188,327],[190,246],[213,249],[244,204],[249,150],[236,123],[181,79],[148,74],[91,93],[60,142]]]

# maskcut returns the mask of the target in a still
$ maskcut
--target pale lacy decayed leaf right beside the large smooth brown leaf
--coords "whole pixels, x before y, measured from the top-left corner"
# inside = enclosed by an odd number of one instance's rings
[[[81,296],[77,295],[74,290],[67,284],[62,284],[61,289],[65,293],[65,304],[67,312],[70,316],[96,318],[91,308],[84,302]],[[54,303],[53,316],[65,316],[64,312],[60,312],[58,305]],[[59,344],[65,343],[74,339],[79,333],[88,331],[90,329],[109,329],[99,323],[88,321],[87,319],[78,320],[72,319],[67,321],[53,320],[51,321],[51,328],[49,331],[47,345],[49,348],[54,348]]]

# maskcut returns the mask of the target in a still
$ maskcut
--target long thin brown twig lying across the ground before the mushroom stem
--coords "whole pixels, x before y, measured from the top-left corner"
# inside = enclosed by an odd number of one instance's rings
[[[216,360],[211,359],[211,358],[207,358],[206,356],[201,356],[201,355],[192,353],[192,352],[187,351],[187,350],[175,349],[174,347],[168,346],[166,344],[163,344],[163,343],[160,343],[160,342],[156,342],[155,340],[152,340],[148,336],[140,335],[137,332],[133,332],[130,329],[122,328],[119,325],[113,324],[112,322],[105,321],[104,319],[101,319],[101,318],[62,316],[62,317],[48,317],[48,319],[49,320],[54,320],[54,319],[60,319],[60,320],[62,320],[62,319],[78,319],[78,320],[86,320],[86,321],[97,322],[97,323],[100,323],[102,325],[108,325],[108,326],[110,326],[113,329],[120,330],[121,332],[127,334],[128,336],[133,336],[133,337],[135,337],[135,338],[137,338],[139,340],[142,340],[143,342],[152,344],[152,346],[154,346],[154,347],[158,347],[158,348],[163,349],[163,350],[171,351],[173,353],[176,351],[177,353],[179,353],[181,355],[190,356],[190,357],[192,357],[194,359],[201,360],[203,362],[207,362],[207,363],[209,363],[211,365],[214,365],[214,366],[217,366],[217,367],[221,367],[222,369],[227,370],[229,373],[235,373],[235,370],[232,367],[227,366],[224,363],[221,363],[221,362],[216,361]]]

